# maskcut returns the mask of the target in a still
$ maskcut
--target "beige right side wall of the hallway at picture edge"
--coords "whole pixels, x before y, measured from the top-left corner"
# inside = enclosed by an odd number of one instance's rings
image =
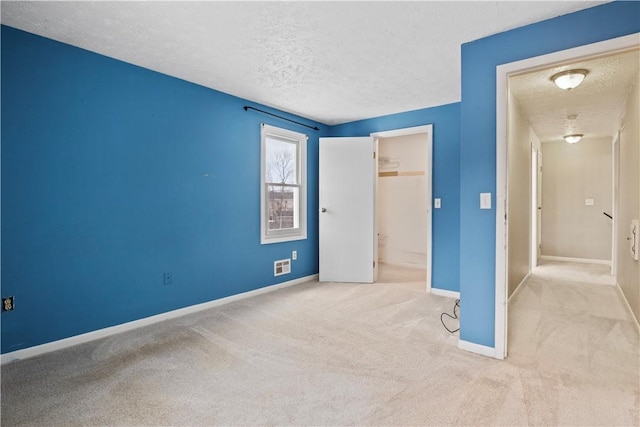
[[[640,319],[640,267],[629,252],[630,225],[640,218],[640,76],[625,108],[620,132],[620,193],[617,236],[617,279],[636,319]]]

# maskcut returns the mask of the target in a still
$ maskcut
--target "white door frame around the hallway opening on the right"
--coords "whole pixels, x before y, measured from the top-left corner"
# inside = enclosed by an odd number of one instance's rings
[[[611,54],[640,45],[640,33],[511,62],[496,67],[496,265],[494,356],[507,354],[507,142],[509,76]]]

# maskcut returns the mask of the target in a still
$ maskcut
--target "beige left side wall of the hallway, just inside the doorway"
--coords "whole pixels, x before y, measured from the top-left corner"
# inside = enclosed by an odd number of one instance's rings
[[[509,98],[507,286],[511,295],[530,270],[531,147],[539,146],[539,140],[522,114],[518,102],[511,95]]]

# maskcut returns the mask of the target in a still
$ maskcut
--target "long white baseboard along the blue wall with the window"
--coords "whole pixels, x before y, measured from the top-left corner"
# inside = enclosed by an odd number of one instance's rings
[[[4,365],[5,363],[14,362],[16,360],[28,359],[30,357],[39,356],[41,354],[50,353],[52,351],[61,350],[63,348],[72,347],[74,345],[83,344],[89,341],[94,341],[100,338],[105,338],[111,335],[119,334],[121,332],[131,331],[133,329],[138,329],[143,326],[152,325],[154,323],[162,322],[169,319],[174,319],[176,317],[186,316],[187,314],[197,313],[199,311],[218,307],[224,304],[229,304],[230,302],[254,297],[256,295],[265,294],[267,292],[273,292],[278,289],[286,288],[289,286],[310,282],[312,280],[318,280],[318,275],[312,274],[311,276],[289,280],[288,282],[276,283],[275,285],[254,289],[253,291],[243,292],[241,294],[219,298],[219,299],[208,301],[202,304],[196,304],[189,307],[168,311],[166,313],[156,314],[154,316],[145,317],[144,319],[138,319],[138,320],[134,320],[127,323],[122,323],[120,325],[110,326],[108,328],[87,332],[85,334],[64,338],[58,341],[48,342],[45,344],[36,345],[33,347],[21,349],[21,350],[16,350],[11,353],[3,354],[1,356],[0,364]]]

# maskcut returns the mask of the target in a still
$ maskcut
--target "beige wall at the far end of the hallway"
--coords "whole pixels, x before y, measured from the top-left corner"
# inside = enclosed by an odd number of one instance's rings
[[[612,138],[545,142],[542,155],[542,255],[610,261]]]

